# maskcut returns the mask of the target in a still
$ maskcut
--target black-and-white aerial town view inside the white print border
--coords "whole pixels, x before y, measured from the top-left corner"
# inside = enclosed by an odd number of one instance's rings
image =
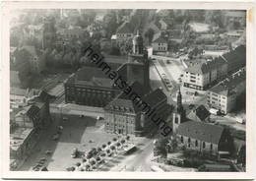
[[[246,172],[245,10],[11,16],[11,171]]]

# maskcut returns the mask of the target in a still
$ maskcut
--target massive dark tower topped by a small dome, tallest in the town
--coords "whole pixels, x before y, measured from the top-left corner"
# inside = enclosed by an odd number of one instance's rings
[[[143,46],[143,37],[139,30],[133,38],[132,53],[128,56],[127,63],[127,81],[133,83],[139,82],[145,88],[145,91],[150,87],[148,52]]]

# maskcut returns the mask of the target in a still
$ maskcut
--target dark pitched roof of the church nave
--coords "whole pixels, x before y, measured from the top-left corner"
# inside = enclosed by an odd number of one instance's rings
[[[219,144],[224,128],[198,121],[187,121],[178,126],[177,134],[207,143]]]

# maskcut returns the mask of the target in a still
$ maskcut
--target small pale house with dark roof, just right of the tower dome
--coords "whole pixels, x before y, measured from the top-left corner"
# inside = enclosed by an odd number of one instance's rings
[[[168,50],[168,40],[161,32],[153,37],[152,47],[154,52],[166,52]]]

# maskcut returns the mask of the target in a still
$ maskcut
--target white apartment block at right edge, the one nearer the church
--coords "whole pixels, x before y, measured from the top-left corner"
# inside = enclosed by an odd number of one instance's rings
[[[238,71],[208,91],[208,105],[226,114],[235,107],[237,96],[244,91],[245,71]]]

